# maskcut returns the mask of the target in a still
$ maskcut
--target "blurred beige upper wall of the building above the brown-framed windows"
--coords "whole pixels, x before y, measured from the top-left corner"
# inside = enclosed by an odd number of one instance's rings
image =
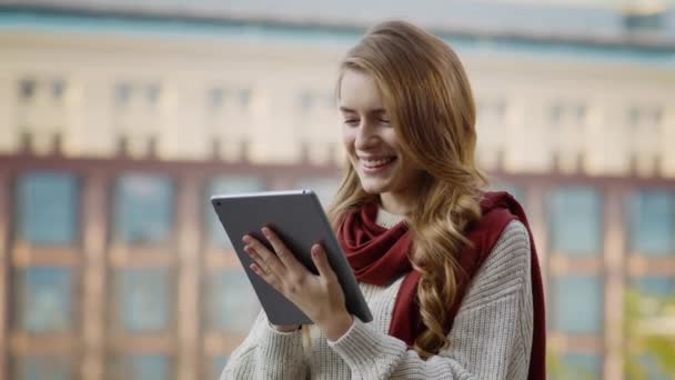
[[[210,157],[216,140],[225,161],[245,154],[252,162],[294,163],[306,147],[312,162],[341,162],[340,122],[329,99],[347,46],[4,32],[0,47],[2,153],[17,151],[28,132],[38,153],[61,134],[72,157],[114,154],[127,137],[129,154],[139,158],[150,139],[160,158],[178,160]],[[675,69],[490,51],[462,58],[478,102],[484,169],[675,177]],[[18,96],[26,79],[37,83],[28,101]],[[49,93],[52,80],[66,83],[61,100]],[[117,107],[122,83],[133,90]],[[231,91],[233,102],[210,110],[212,88]],[[316,97],[308,110],[303,93]]]

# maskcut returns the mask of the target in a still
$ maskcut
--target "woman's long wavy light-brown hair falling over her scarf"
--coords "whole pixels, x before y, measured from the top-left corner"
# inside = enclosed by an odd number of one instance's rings
[[[414,350],[423,358],[446,347],[450,306],[455,301],[455,256],[469,241],[465,227],[481,217],[485,177],[477,170],[475,104],[471,86],[455,52],[441,39],[404,21],[370,29],[343,59],[345,71],[371,76],[391,118],[402,156],[422,171],[415,204],[405,216],[413,233],[412,266],[422,276],[417,287],[423,331]],[[366,193],[351,164],[329,208],[338,226],[377,194]]]

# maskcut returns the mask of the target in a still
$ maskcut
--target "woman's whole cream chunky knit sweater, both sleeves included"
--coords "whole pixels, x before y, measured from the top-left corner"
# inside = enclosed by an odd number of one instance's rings
[[[377,223],[385,228],[400,219],[377,212]],[[278,332],[261,312],[221,380],[526,379],[533,311],[530,240],[521,222],[506,227],[467,288],[450,347],[429,360],[386,333],[402,279],[384,287],[361,283],[374,320],[354,318],[334,342],[312,328],[312,343],[303,347],[302,332]]]

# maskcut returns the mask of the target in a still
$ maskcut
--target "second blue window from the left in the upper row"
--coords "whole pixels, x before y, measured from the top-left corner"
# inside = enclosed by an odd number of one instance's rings
[[[127,243],[167,241],[173,223],[173,191],[170,178],[121,177],[114,194],[115,238]]]

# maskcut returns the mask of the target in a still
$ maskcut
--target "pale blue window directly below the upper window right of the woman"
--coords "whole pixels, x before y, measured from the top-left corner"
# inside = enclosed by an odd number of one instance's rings
[[[603,324],[600,277],[564,276],[552,280],[552,328],[568,333],[597,333]]]

